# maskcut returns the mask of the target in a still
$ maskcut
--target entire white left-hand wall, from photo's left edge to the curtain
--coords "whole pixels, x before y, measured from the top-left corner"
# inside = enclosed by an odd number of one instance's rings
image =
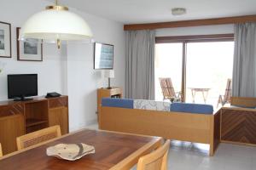
[[[90,43],[69,43],[58,50],[55,44],[44,45],[43,62],[17,61],[15,27],[32,14],[43,10],[44,0],[0,0],[0,21],[12,24],[12,59],[0,58],[6,63],[0,73],[0,100],[7,99],[7,74],[38,73],[38,94],[56,91],[69,96],[70,130],[77,130],[96,122],[96,88],[106,87],[108,80],[102,71],[93,70],[93,46]],[[113,85],[125,88],[125,33],[123,25],[85,14],[74,8],[88,21],[96,42],[114,45]]]

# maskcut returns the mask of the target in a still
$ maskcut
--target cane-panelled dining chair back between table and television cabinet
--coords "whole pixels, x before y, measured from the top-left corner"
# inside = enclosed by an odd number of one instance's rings
[[[18,137],[17,147],[18,150],[25,149],[34,144],[40,144],[42,142],[48,141],[49,139],[55,139],[61,136],[61,127],[59,125],[44,128],[33,133],[28,133],[23,136]]]

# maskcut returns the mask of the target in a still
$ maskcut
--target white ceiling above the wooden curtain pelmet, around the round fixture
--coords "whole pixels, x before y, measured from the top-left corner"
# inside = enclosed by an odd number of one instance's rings
[[[256,14],[256,0],[60,0],[61,4],[124,24]],[[187,8],[173,16],[172,8]]]

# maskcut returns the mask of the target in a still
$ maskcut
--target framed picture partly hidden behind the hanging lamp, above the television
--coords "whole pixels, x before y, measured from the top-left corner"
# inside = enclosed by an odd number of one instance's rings
[[[42,40],[27,38],[19,41],[20,27],[16,28],[17,34],[17,59],[23,61],[43,61]]]

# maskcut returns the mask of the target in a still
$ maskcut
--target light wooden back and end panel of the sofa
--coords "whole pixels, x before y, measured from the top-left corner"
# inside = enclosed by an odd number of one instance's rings
[[[99,109],[99,128],[102,130],[210,144],[210,156],[220,142],[220,112],[206,115],[107,106]]]

